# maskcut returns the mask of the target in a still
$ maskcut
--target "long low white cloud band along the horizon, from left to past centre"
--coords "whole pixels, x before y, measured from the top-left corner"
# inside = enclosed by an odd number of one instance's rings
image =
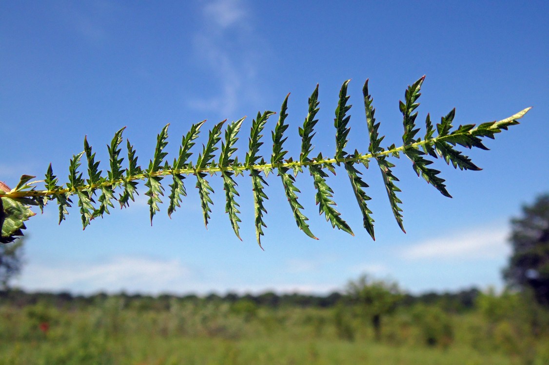
[[[295,280],[294,280],[295,281]],[[318,283],[314,278],[300,282],[277,280],[248,283],[230,279],[228,272],[203,270],[178,259],[119,256],[100,263],[71,261],[49,265],[29,263],[15,282],[24,290],[70,291],[91,294],[100,291],[119,293],[329,293],[338,283]]]

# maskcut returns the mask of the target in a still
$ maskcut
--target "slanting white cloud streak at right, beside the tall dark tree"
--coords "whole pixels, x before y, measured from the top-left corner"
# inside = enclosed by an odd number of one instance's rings
[[[509,255],[507,227],[479,227],[427,239],[401,249],[404,259],[497,259]]]

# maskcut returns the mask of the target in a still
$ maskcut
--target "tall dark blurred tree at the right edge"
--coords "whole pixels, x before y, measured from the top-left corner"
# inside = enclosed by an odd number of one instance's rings
[[[513,254],[503,277],[511,287],[532,289],[536,300],[549,306],[549,194],[524,206],[511,225]]]

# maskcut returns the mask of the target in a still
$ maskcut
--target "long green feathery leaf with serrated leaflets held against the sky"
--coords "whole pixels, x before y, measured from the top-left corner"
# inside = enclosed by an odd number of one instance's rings
[[[251,123],[251,131],[249,137],[249,150],[246,152],[244,162],[239,162],[235,156],[237,152],[234,147],[238,140],[238,133],[242,127],[244,118],[236,122],[227,123],[223,141],[221,134],[225,121],[217,123],[208,134],[208,141],[203,145],[202,151],[198,154],[196,161],[193,163],[191,152],[195,140],[198,138],[200,129],[205,121],[193,124],[189,132],[183,136],[179,153],[170,164],[165,158],[167,153],[164,149],[167,145],[167,124],[156,139],[156,148],[154,157],[149,162],[148,168],[141,168],[137,163],[136,151],[133,149],[130,141],[126,141],[127,159],[126,167],[122,167],[124,157],[121,157],[122,133],[125,128],[120,129],[115,133],[113,140],[108,145],[109,152],[109,170],[103,174],[99,170],[99,161],[95,161],[95,153],[92,152],[92,147],[84,138],[84,150],[77,155],[72,156],[69,162],[69,182],[59,184],[57,176],[53,173],[52,165],[50,164],[44,180],[31,181],[35,176],[23,175],[19,183],[14,189],[10,189],[4,183],[0,183],[0,225],[2,226],[2,237],[0,242],[12,242],[18,236],[23,236],[25,229],[24,222],[31,216],[35,215],[30,209],[30,206],[38,206],[43,211],[44,206],[49,201],[57,201],[59,208],[59,223],[65,220],[68,214],[68,208],[71,207],[73,201],[76,200],[80,208],[82,226],[84,229],[91,221],[104,214],[109,214],[109,209],[115,207],[115,203],[120,204],[121,208],[130,206],[130,201],[134,201],[137,194],[138,181],[144,181],[147,187],[145,195],[149,197],[148,204],[150,210],[150,221],[152,224],[153,217],[160,210],[159,203],[162,202],[162,197],[165,192],[166,178],[171,178],[172,183],[169,184],[169,194],[165,198],[168,201],[167,214],[171,216],[176,208],[180,208],[182,197],[187,195],[184,182],[193,175],[200,197],[200,204],[204,217],[204,224],[207,226],[210,219],[211,208],[213,204],[211,193],[214,190],[211,188],[208,178],[214,175],[221,175],[223,179],[223,189],[225,190],[225,212],[227,213],[234,233],[240,238],[239,224],[240,211],[237,198],[236,176],[249,174],[253,186],[254,196],[254,212],[255,212],[255,232],[257,243],[261,247],[261,236],[264,235],[263,227],[265,224],[265,214],[267,213],[264,201],[267,199],[264,187],[267,185],[265,180],[269,173],[277,172],[282,180],[285,195],[288,199],[290,210],[294,215],[295,223],[300,230],[307,236],[318,239],[311,232],[307,220],[309,220],[302,212],[303,207],[298,201],[299,189],[295,186],[295,178],[302,173],[304,169],[308,170],[313,177],[313,185],[316,191],[315,200],[318,205],[318,211],[324,214],[327,221],[333,227],[348,232],[354,235],[351,227],[341,218],[338,210],[335,209],[333,201],[333,190],[328,186],[328,173],[335,174],[336,168],[345,169],[349,176],[349,182],[355,194],[358,208],[362,214],[363,226],[372,239],[374,236],[374,220],[372,212],[368,208],[367,202],[371,199],[366,188],[368,184],[362,179],[359,170],[362,165],[366,169],[369,167],[369,162],[376,161],[381,175],[389,203],[396,222],[400,229],[404,231],[402,224],[402,208],[401,200],[397,193],[401,190],[395,183],[399,181],[393,174],[391,168],[395,165],[389,161],[390,157],[399,157],[404,153],[412,162],[412,168],[418,176],[421,176],[428,184],[433,185],[442,195],[451,197],[446,190],[445,180],[439,174],[440,171],[430,168],[429,165],[433,162],[427,159],[428,156],[433,158],[441,157],[447,164],[461,170],[480,170],[469,157],[463,155],[456,147],[462,146],[467,149],[477,147],[482,150],[488,150],[483,144],[484,138],[494,139],[496,133],[502,130],[507,130],[509,126],[518,124],[518,119],[522,118],[530,108],[526,108],[515,115],[503,119],[482,123],[478,126],[475,124],[466,124],[454,128],[452,126],[455,117],[455,109],[450,111],[446,116],[442,117],[440,123],[433,125],[429,114],[425,119],[425,134],[418,136],[419,128],[416,126],[417,112],[419,106],[417,100],[425,76],[418,79],[412,85],[408,86],[404,101],[400,101],[400,111],[403,116],[404,134],[402,134],[402,145],[396,147],[395,144],[390,147],[382,147],[383,136],[379,136],[379,123],[374,117],[375,109],[372,106],[372,96],[368,91],[368,80],[363,87],[364,106],[366,110],[366,123],[369,133],[368,151],[359,152],[355,150],[352,153],[346,152],[345,146],[348,142],[350,127],[348,127],[350,116],[347,114],[351,109],[348,105],[349,96],[347,95],[347,86],[349,80],[345,81],[339,92],[339,102],[335,109],[334,127],[335,127],[335,155],[333,157],[324,157],[322,153],[317,156],[312,155],[313,145],[312,138],[315,135],[315,126],[318,122],[315,116],[318,112],[318,85],[309,98],[309,113],[303,123],[299,127],[299,135],[301,137],[301,153],[298,158],[287,157],[287,151],[284,150],[284,142],[287,137],[284,133],[288,129],[288,124],[285,120],[287,114],[288,96],[282,103],[282,108],[278,114],[278,122],[275,129],[272,131],[272,154],[269,157],[258,155],[259,148],[264,144],[262,139],[263,131],[267,119],[275,115],[275,112],[265,111],[257,113],[257,117]],[[221,149],[219,142],[221,141]],[[216,162],[216,152],[219,151]],[[82,161],[85,158],[87,162],[88,178],[83,178],[83,174],[79,171]],[[210,176],[209,176],[210,175]],[[187,180],[188,181],[188,180]],[[43,183],[42,189],[37,189],[37,185]],[[240,238],[242,239],[242,238]]]

